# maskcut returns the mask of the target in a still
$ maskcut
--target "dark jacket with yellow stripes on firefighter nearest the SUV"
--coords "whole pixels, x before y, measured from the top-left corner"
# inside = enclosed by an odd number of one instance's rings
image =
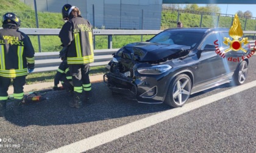
[[[59,33],[64,47],[68,46],[68,65],[85,65],[94,62],[93,30],[90,22],[82,17],[71,18]]]

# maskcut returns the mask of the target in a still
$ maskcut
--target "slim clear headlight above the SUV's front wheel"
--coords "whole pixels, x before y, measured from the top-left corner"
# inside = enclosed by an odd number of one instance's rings
[[[158,75],[170,70],[172,67],[169,65],[157,65],[152,67],[138,68],[138,72],[146,75]]]

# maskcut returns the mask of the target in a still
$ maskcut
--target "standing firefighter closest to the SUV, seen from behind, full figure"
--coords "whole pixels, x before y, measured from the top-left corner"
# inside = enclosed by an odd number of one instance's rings
[[[68,47],[67,62],[74,86],[74,100],[69,101],[69,106],[80,108],[83,90],[87,98],[91,96],[89,64],[94,61],[93,29],[75,6],[65,4],[62,16],[65,24],[60,30],[59,38],[62,46]]]

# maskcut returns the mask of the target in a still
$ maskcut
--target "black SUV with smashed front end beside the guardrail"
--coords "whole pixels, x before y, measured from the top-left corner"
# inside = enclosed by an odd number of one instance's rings
[[[164,30],[147,42],[127,44],[113,54],[104,82],[113,94],[172,107],[182,106],[191,94],[211,87],[231,81],[243,84],[250,46],[242,45],[240,38],[235,42],[239,50],[225,52],[232,46],[224,43],[225,37],[232,40],[229,29]]]

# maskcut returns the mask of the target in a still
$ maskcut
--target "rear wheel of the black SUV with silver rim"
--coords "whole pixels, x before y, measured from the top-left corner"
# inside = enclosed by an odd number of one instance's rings
[[[248,64],[246,61],[242,61],[233,74],[233,83],[235,83],[235,85],[243,84],[247,78],[247,73]]]

